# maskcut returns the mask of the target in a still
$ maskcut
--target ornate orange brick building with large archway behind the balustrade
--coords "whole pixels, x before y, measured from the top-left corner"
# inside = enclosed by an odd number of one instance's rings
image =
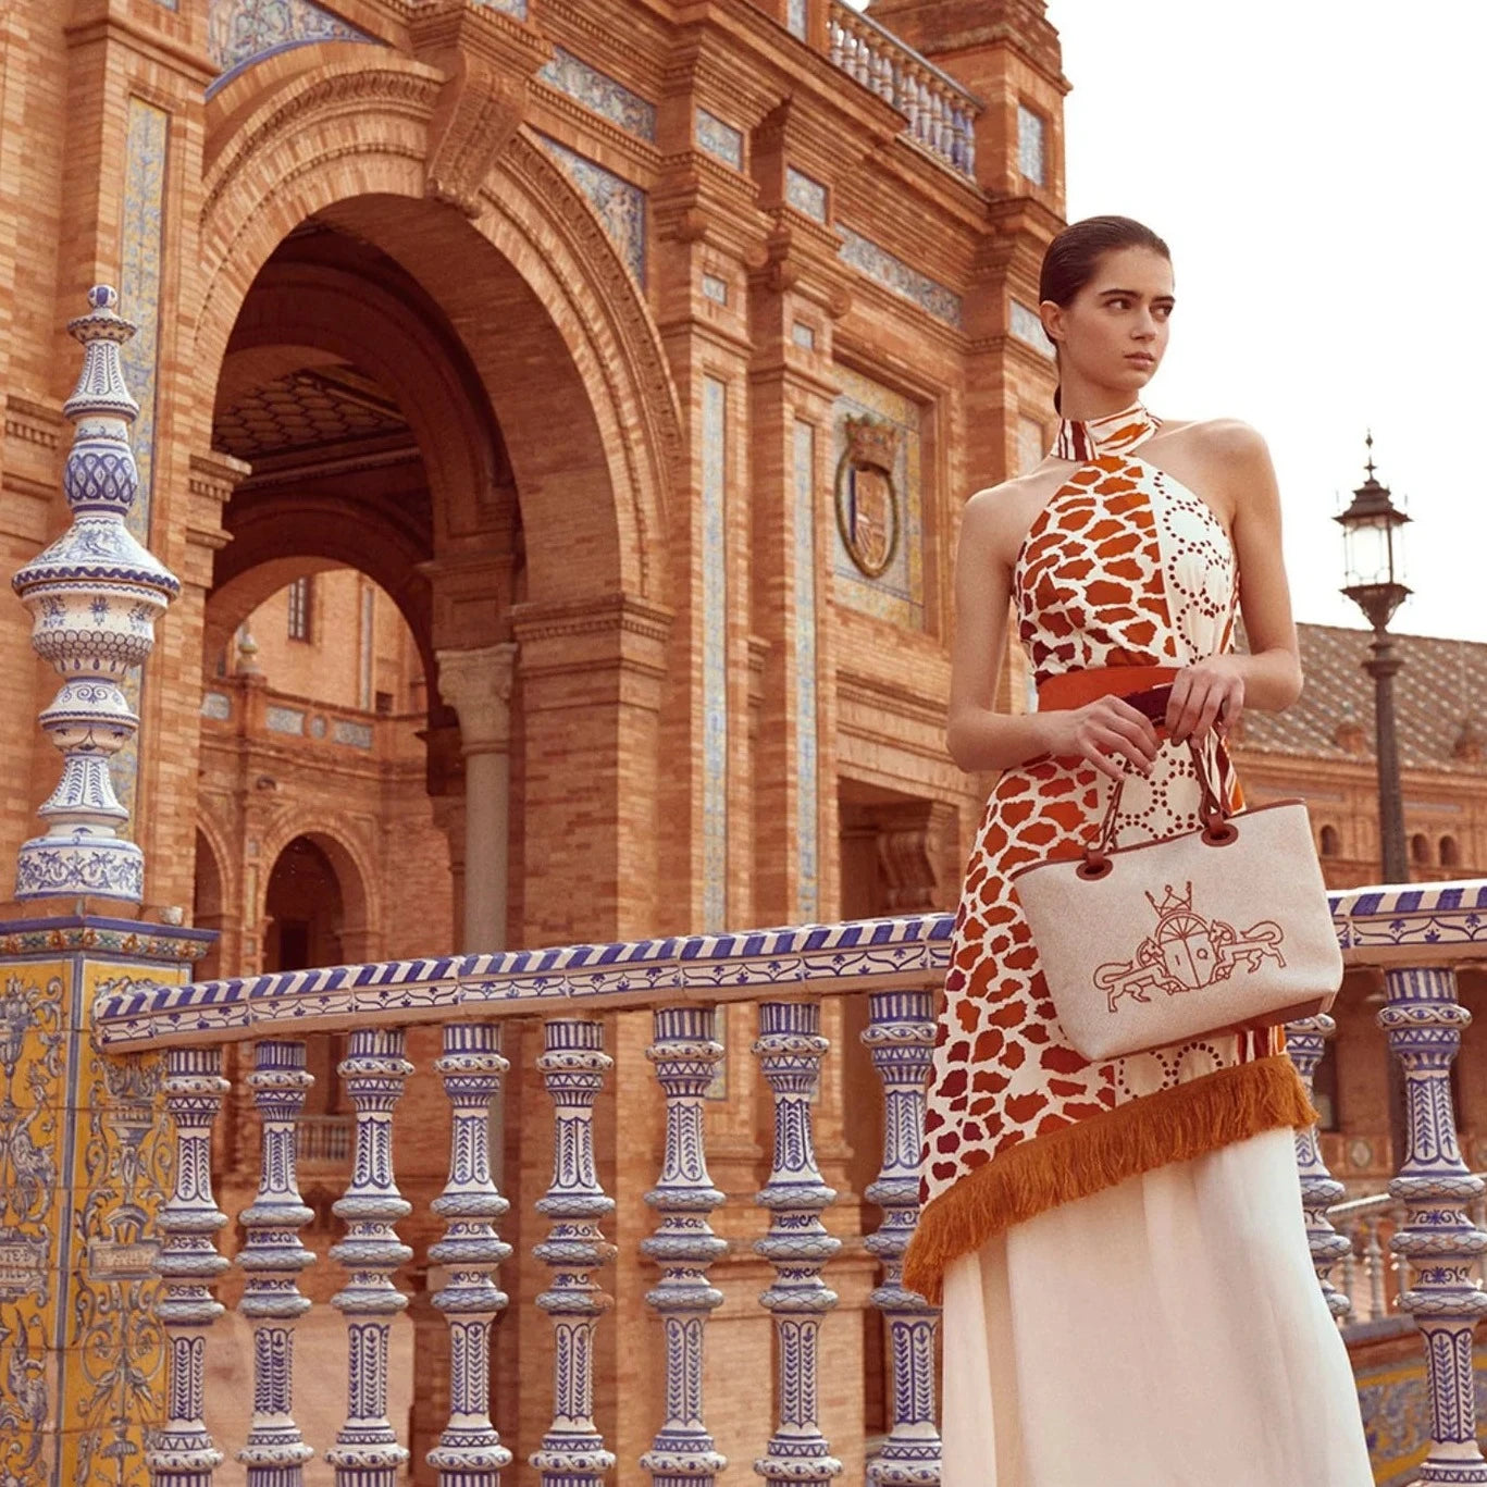
[[[62,327],[89,284],[117,284],[140,326],[137,535],[183,580],[132,699],[141,746],[114,770],[146,912],[219,931],[208,970],[245,974],[953,903],[986,781],[943,748],[947,575],[964,497],[1048,440],[1036,274],[1062,223],[1068,86],[1042,0],[874,0],[868,18],[839,0],[6,7],[3,561],[65,523]],[[1326,803],[1329,871],[1355,882],[1374,851],[1368,702],[1346,632],[1307,644],[1303,709],[1254,720],[1245,764],[1257,794],[1301,782]],[[1478,665],[1417,644],[1404,687],[1426,662]],[[13,859],[55,778],[33,723],[55,683],[15,604],[0,678]],[[1014,666],[1004,700],[1022,690]],[[1411,830],[1429,871],[1466,873],[1487,857],[1487,773],[1438,694],[1405,723]],[[852,1245],[879,1160],[862,1017],[825,1010],[842,1056],[816,1109],[849,1240],[822,1417],[854,1477],[883,1420],[877,1267]],[[1335,1145],[1368,1178],[1383,1086],[1347,1057],[1352,1017]],[[730,1197],[769,1170],[751,1026],[744,1004],[720,1016],[708,1151]],[[607,1032],[620,1069],[645,1068],[644,1014]],[[436,1036],[410,1032],[397,1115],[418,1254],[446,1173]],[[495,1414],[528,1448],[550,1402],[538,1050],[535,1025],[509,1028]],[[318,1251],[346,1164],[335,1062],[333,1036],[312,1039]],[[236,1212],[256,1127],[228,1072]],[[641,1075],[604,1099],[622,1259],[598,1408],[633,1462],[660,1414],[638,1254],[660,1099]],[[746,1201],[718,1219],[738,1242],[761,1224]],[[714,1268],[709,1368],[767,1374],[767,1274],[745,1243]],[[323,1261],[305,1285],[336,1283]],[[422,1271],[404,1283],[433,1359],[443,1323]],[[443,1387],[419,1370],[415,1462]],[[757,1402],[712,1398],[727,1480],[751,1480]]]

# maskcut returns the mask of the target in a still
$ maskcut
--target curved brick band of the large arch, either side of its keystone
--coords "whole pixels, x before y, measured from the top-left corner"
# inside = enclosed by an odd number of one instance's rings
[[[207,107],[195,366],[216,378],[269,256],[305,220],[330,222],[399,262],[459,335],[506,434],[528,596],[665,601],[678,400],[644,300],[587,204],[522,131],[479,187],[474,222],[428,199],[443,74],[336,46],[303,67],[314,51],[296,58],[302,70],[275,58],[245,71]]]

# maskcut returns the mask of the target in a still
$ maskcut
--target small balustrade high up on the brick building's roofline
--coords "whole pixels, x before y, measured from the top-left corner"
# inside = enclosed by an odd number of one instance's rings
[[[981,101],[842,0],[831,0],[827,27],[833,64],[891,103],[909,120],[910,135],[931,155],[974,180]]]

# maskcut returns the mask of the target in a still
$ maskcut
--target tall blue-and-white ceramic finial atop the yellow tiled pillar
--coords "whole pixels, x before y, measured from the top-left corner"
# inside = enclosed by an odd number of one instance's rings
[[[57,669],[62,688],[40,717],[61,749],[62,778],[42,806],[45,836],[21,848],[18,900],[144,897],[144,854],[119,836],[109,760],[138,732],[120,683],[155,647],[155,620],[180,593],[170,574],[123,525],[140,489],[129,425],[140,404],[123,385],[119,346],[135,332],[106,284],[88,291],[89,311],[68,323],[83,369],[62,412],[73,421],[62,489],[71,526],[10,580],[31,611],[31,648]]]

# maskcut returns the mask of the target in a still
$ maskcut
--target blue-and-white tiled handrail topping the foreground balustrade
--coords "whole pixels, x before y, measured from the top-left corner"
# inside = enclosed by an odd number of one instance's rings
[[[1350,889],[1329,900],[1344,953],[1358,961],[1373,956],[1371,949],[1352,952],[1361,931],[1374,923],[1395,925],[1390,946],[1407,950],[1405,958],[1422,965],[1457,956],[1460,944],[1474,943],[1472,935],[1487,938],[1487,882]],[[101,1044],[129,1048],[159,1039],[241,1041],[263,1036],[275,1023],[309,1029],[333,1020],[345,1026],[379,1017],[437,1022],[455,1007],[461,1016],[519,1016],[538,1004],[547,1013],[546,1004],[552,1002],[654,1007],[683,995],[729,1001],[752,996],[761,986],[804,990],[815,984],[831,993],[889,990],[932,984],[947,970],[953,925],[949,913],[912,915],[333,965],[190,984],[167,986],[137,977],[100,987],[94,1025]],[[112,934],[122,943],[128,929],[138,926],[120,922]],[[45,944],[30,938],[42,931],[37,922],[25,926],[21,938],[42,952]],[[183,953],[199,955],[201,932],[180,934],[190,937],[180,943]],[[158,947],[171,943],[159,940]],[[4,944],[0,938],[0,952]]]

